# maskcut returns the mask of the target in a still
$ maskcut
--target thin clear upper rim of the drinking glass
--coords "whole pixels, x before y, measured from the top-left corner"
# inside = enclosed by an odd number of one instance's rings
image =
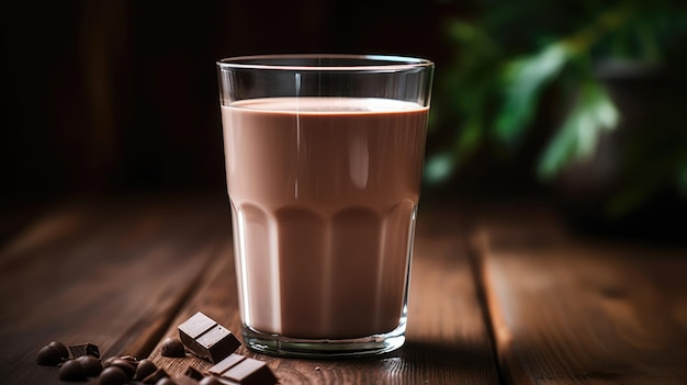
[[[360,60],[360,65],[317,66],[303,64],[272,63],[283,59],[340,59]],[[257,61],[257,63],[251,63]],[[369,64],[365,64],[368,61]],[[349,71],[378,72],[404,71],[423,67],[433,67],[431,60],[397,55],[349,55],[349,54],[279,54],[279,55],[249,55],[234,56],[218,60],[221,69],[260,69],[260,70],[291,70],[291,71]]]

